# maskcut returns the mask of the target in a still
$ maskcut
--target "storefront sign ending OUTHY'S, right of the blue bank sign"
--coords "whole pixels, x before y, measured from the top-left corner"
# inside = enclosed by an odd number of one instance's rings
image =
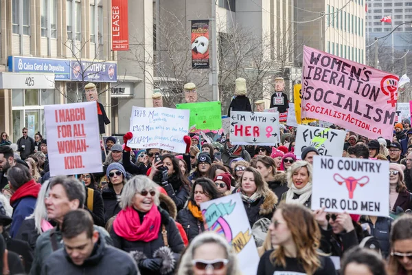
[[[109,61],[71,61],[71,80],[117,82],[117,63]]]

